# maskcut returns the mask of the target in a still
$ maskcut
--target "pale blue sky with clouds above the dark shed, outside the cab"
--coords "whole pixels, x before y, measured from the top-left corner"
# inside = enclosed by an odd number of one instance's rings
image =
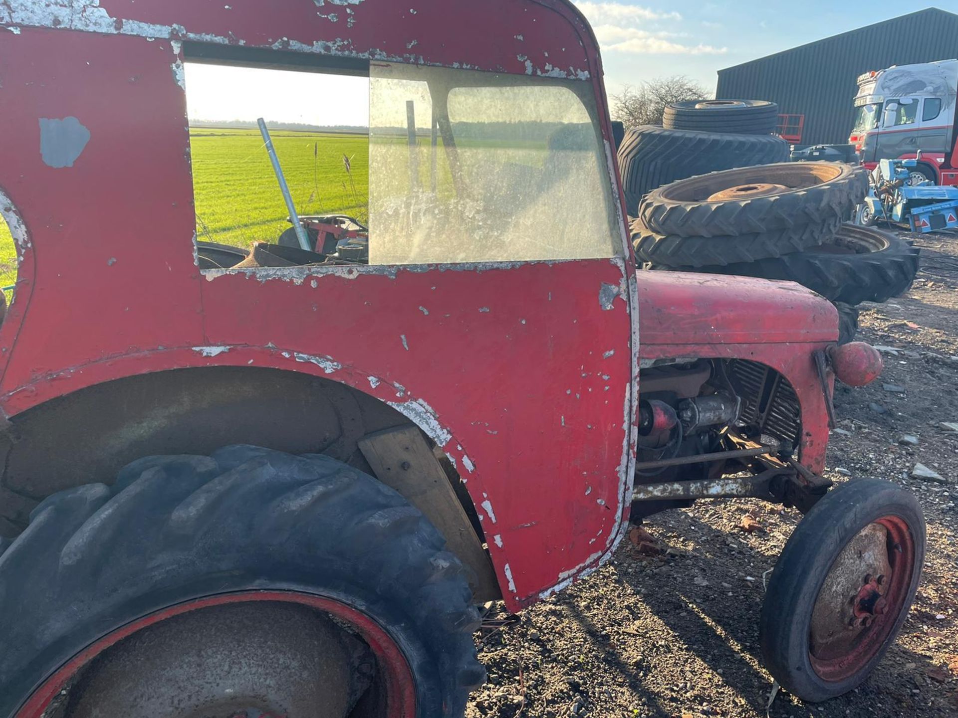
[[[624,84],[687,75],[714,91],[716,72],[833,34],[958,0],[573,0],[603,48],[611,93]]]

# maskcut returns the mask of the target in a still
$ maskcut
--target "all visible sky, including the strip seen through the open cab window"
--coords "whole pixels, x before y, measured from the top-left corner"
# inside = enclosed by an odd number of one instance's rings
[[[958,12],[958,0],[573,0],[603,50],[610,94],[670,75],[714,92],[716,72],[923,8]],[[944,59],[944,58],[943,58]],[[365,124],[365,79],[212,65],[187,66],[190,116]],[[315,90],[315,91],[313,91]],[[338,102],[326,101],[330,96]]]

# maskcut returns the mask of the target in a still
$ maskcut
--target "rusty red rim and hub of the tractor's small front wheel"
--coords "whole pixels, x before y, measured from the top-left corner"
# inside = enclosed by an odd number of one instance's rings
[[[841,551],[812,610],[809,658],[823,681],[844,681],[878,655],[907,603],[914,569],[914,537],[898,516],[864,527]]]

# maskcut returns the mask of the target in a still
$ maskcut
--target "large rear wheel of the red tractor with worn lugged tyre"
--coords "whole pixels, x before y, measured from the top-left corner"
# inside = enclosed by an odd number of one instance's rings
[[[485,671],[444,545],[326,456],[135,461],[0,556],[0,716],[459,718]]]

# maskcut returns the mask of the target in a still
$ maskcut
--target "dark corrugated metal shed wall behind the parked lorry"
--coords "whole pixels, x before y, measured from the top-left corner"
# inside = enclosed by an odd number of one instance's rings
[[[848,142],[855,79],[892,65],[958,57],[958,14],[924,10],[719,70],[719,100],[771,100],[805,115],[804,145]]]

